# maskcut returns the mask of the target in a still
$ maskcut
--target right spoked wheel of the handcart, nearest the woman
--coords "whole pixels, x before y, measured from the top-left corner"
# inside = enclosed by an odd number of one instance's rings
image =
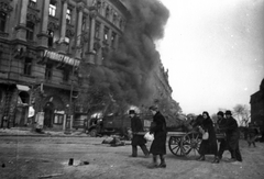
[[[198,150],[200,148],[200,143],[201,136],[199,133],[196,132],[187,133],[185,136],[183,136],[180,144],[184,155],[197,156],[199,154]]]

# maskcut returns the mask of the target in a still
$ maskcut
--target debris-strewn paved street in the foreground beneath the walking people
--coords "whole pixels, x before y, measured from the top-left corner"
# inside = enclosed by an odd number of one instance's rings
[[[166,169],[147,169],[151,158],[139,149],[138,158],[128,157],[131,146],[111,147],[101,144],[105,138],[91,137],[0,137],[0,179],[87,178],[264,178],[264,144],[249,148],[241,142],[243,163],[211,164],[194,157],[176,157],[167,150]],[[148,144],[150,146],[150,144]],[[224,153],[229,157],[229,153]],[[68,159],[74,158],[74,166]],[[89,165],[81,165],[88,161]]]

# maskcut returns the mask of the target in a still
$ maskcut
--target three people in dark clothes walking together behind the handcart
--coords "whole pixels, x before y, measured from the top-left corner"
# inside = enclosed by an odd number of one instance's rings
[[[233,161],[242,161],[242,156],[239,148],[239,138],[240,131],[238,126],[238,122],[232,118],[231,111],[219,111],[217,113],[218,121],[217,127],[213,126],[213,122],[208,112],[202,113],[204,120],[198,125],[199,132],[204,135],[208,133],[207,138],[202,138],[198,160],[205,160],[206,155],[215,155],[215,159],[212,163],[219,163],[222,159],[222,155],[224,150],[229,150],[231,153],[230,163]],[[226,115],[226,116],[224,116]],[[199,118],[199,116],[198,116]],[[218,139],[216,135],[216,128],[219,133],[222,133],[226,137],[219,138],[219,148],[218,148]]]

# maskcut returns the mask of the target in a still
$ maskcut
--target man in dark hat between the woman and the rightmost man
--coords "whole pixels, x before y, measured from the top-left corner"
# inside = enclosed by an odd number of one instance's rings
[[[219,149],[218,149],[218,163],[222,159],[222,155],[224,150],[229,149],[227,138],[226,138],[226,131],[222,130],[227,125],[227,119],[224,118],[224,113],[222,111],[219,111],[217,113],[218,121],[217,121],[217,126],[218,126],[218,132],[222,134],[223,138],[219,138]],[[231,153],[231,150],[229,150]],[[231,153],[232,155],[232,153]]]

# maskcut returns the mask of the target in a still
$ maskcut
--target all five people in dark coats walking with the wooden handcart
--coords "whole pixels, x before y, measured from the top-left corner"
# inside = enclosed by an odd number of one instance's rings
[[[152,154],[152,163],[150,168],[166,168],[165,155],[166,155],[166,120],[156,107],[150,107],[150,111],[153,114],[153,122],[150,127],[150,133],[154,134],[154,141],[152,142],[150,150],[145,143],[146,139],[143,132],[143,124],[141,119],[136,115],[134,110],[129,111],[131,118],[131,130],[132,130],[132,155],[131,157],[138,156],[138,146],[141,147],[146,157]],[[215,155],[212,163],[218,164],[222,159],[224,150],[229,150],[231,154],[230,163],[242,161],[242,156],[239,148],[240,131],[237,121],[232,118],[231,111],[219,111],[217,113],[218,121],[217,127],[208,112],[202,112],[202,115],[198,115],[194,127],[197,128],[202,135],[202,141],[199,147],[200,156],[197,160],[206,160],[206,155]],[[217,130],[217,131],[216,131]],[[216,133],[222,133],[226,137],[217,138]],[[218,147],[218,141],[220,143]],[[158,164],[158,156],[161,163]]]

